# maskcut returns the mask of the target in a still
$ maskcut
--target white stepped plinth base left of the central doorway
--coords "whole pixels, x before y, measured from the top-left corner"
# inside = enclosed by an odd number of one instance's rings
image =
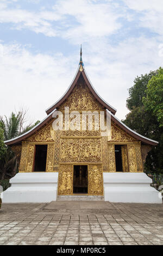
[[[3,203],[48,203],[57,198],[58,173],[17,173],[10,183]]]

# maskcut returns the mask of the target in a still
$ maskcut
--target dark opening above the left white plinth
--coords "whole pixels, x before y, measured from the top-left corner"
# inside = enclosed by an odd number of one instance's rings
[[[34,172],[46,172],[47,145],[35,145]]]

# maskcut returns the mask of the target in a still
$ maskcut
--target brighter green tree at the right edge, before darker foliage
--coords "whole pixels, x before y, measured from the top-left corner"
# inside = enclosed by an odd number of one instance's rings
[[[145,96],[142,100],[147,111],[157,118],[159,125],[163,126],[163,69],[149,80]]]

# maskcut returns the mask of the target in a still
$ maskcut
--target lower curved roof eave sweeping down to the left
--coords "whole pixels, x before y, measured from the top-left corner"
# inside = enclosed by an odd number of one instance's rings
[[[32,135],[35,131],[39,130],[43,124],[46,124],[49,119],[51,119],[51,115],[56,111],[57,109],[55,108],[51,113],[47,115],[46,118],[44,118],[39,124],[35,125],[32,129],[29,131],[23,133],[20,136],[17,136],[16,138],[9,139],[8,141],[4,141],[5,144],[10,145],[14,143],[18,143],[23,140],[23,138],[27,138],[30,135]]]

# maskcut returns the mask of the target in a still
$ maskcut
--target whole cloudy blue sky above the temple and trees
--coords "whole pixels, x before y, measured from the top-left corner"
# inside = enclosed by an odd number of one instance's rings
[[[82,44],[93,86],[123,119],[134,78],[163,66],[162,17],[162,0],[1,0],[0,115],[24,106],[43,119],[71,83]]]

